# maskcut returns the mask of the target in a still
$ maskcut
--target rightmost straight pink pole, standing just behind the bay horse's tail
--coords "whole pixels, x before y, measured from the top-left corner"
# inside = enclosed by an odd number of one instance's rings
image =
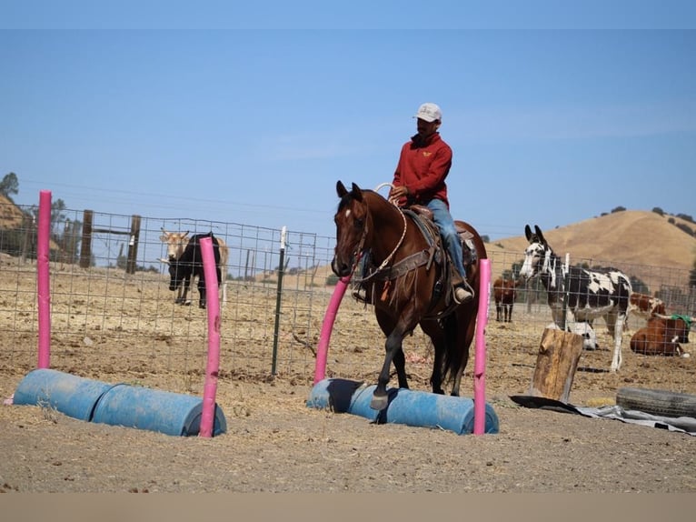
[[[476,318],[476,349],[473,364],[473,435],[485,433],[486,426],[486,324],[491,301],[491,260],[479,261],[479,311]]]

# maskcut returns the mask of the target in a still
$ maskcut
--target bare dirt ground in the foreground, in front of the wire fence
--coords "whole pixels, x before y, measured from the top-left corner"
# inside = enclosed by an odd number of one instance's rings
[[[13,383],[3,378],[2,392]],[[6,492],[696,491],[696,437],[490,397],[483,436],[305,406],[309,387],[230,382],[228,430],[172,437],[55,410],[0,407]],[[271,406],[273,405],[273,406]]]

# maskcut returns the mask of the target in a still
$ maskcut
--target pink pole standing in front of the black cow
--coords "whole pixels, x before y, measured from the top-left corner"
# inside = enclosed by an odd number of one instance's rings
[[[215,421],[215,394],[217,392],[217,376],[220,369],[220,296],[218,286],[210,282],[217,281],[213,240],[210,237],[201,238],[201,254],[203,255],[203,270],[205,276],[205,300],[208,311],[208,362],[205,368],[205,384],[203,389],[203,411],[201,412],[201,427],[199,437],[213,437]],[[223,274],[222,276],[226,276]]]

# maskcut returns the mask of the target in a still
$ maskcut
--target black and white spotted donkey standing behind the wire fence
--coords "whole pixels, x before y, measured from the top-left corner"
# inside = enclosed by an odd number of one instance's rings
[[[613,268],[606,271],[587,270],[580,266],[566,268],[561,258],[553,253],[539,226],[534,226],[533,234],[530,226],[525,226],[524,234],[529,246],[524,251],[520,276],[524,279],[541,277],[549,297],[553,322],[561,328],[565,327],[562,320],[566,294],[566,324],[586,321],[592,325],[593,319],[603,317],[614,338],[610,369],[617,371],[621,367],[621,338],[631,299],[629,277]],[[572,331],[572,327],[570,329]]]

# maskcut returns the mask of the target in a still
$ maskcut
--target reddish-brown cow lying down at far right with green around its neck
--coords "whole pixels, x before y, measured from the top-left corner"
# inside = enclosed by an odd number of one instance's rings
[[[680,343],[689,342],[691,321],[682,316],[652,316],[631,337],[631,350],[644,356],[684,356]]]

